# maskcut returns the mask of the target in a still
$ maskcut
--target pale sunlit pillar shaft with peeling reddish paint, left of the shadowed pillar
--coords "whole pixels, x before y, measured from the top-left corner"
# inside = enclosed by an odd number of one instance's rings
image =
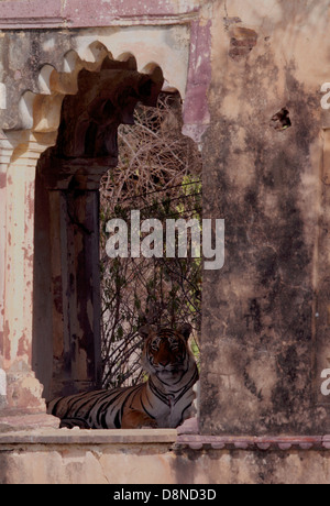
[[[30,157],[29,157],[30,156]],[[40,152],[7,172],[4,366],[11,408],[43,410],[42,387],[31,370],[34,175]]]

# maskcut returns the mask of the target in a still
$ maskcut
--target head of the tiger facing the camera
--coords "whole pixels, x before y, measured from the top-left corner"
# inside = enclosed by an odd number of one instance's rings
[[[164,383],[175,383],[196,362],[188,345],[191,326],[185,323],[178,330],[156,330],[153,326],[140,329],[140,334],[145,339],[142,353],[144,370],[156,375]]]

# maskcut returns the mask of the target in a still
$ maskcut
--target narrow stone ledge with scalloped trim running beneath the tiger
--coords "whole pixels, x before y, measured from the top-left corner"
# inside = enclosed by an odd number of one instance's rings
[[[35,424],[40,417],[32,416]],[[51,420],[53,417],[47,417]],[[1,419],[1,418],[0,418]],[[44,419],[43,419],[44,420]],[[52,420],[51,420],[52,421]],[[58,421],[58,420],[57,420]],[[33,444],[161,444],[191,450],[330,450],[330,436],[210,436],[198,433],[193,418],[178,429],[81,430],[30,427],[2,430],[0,446]]]

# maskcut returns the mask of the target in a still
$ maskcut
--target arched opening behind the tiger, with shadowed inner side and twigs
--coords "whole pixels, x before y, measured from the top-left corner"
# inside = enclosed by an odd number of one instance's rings
[[[201,258],[191,245],[185,258],[105,254],[107,221],[133,208],[200,221],[201,156],[182,134],[179,92],[163,84],[157,65],[141,74],[130,57],[82,68],[37,163],[32,353],[46,400],[141,381],[145,322],[190,322],[198,354]]]

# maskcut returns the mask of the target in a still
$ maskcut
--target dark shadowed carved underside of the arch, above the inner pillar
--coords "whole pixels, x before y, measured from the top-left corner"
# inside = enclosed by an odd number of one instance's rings
[[[63,102],[56,153],[66,158],[103,158],[118,155],[117,129],[134,123],[138,101],[156,106],[163,86],[155,77],[134,70],[111,69],[106,58],[98,73],[81,70],[78,92]]]

